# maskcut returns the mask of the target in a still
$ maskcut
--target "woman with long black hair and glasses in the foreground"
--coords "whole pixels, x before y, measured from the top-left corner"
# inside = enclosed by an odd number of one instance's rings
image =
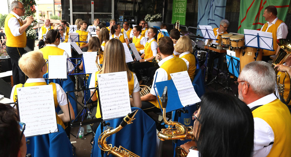
[[[212,92],[202,96],[199,106],[192,117],[196,119],[195,141],[181,145],[190,151],[188,156],[252,156],[254,122],[245,103],[234,96]]]

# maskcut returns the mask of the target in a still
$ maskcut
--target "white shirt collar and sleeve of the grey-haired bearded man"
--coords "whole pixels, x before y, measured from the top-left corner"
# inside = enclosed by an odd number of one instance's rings
[[[249,108],[253,108],[258,105],[265,105],[276,100],[277,97],[272,93],[267,96],[264,96],[248,105]],[[271,142],[274,142],[274,132],[271,126],[261,118],[254,118],[254,157],[265,157],[267,156],[273,144],[269,145]],[[269,145],[269,146],[268,146]],[[267,147],[264,147],[267,146]]]

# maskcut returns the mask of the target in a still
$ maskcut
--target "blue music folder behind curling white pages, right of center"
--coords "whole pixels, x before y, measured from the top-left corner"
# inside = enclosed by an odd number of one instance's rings
[[[165,86],[168,87],[168,103],[167,103],[167,107],[166,107],[166,113],[183,108],[184,106],[182,105],[182,103],[180,101],[180,98],[178,95],[178,90],[175,87],[173,80],[156,82],[156,87],[157,87],[157,91],[159,93],[159,96],[161,96],[163,94]],[[191,105],[194,105],[194,103]],[[161,106],[162,106],[162,104],[161,104]]]

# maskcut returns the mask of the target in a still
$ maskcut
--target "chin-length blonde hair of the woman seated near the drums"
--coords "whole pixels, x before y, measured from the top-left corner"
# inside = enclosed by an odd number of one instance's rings
[[[175,45],[175,51],[179,53],[189,51],[191,53],[193,49],[190,38],[188,36],[182,36]]]

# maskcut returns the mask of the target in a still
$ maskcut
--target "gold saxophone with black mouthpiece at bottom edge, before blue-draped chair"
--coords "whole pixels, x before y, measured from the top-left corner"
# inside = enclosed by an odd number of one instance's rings
[[[100,134],[98,139],[98,146],[103,151],[108,151],[108,155],[112,154],[117,157],[139,157],[138,155],[132,153],[131,151],[123,148],[122,146],[119,146],[118,148],[115,146],[112,148],[112,144],[107,144],[106,138],[109,137],[112,134],[117,133],[119,130],[121,130],[123,127],[125,127],[126,124],[132,124],[132,121],[135,119],[133,118],[138,110],[134,110],[133,112],[126,115],[126,117],[123,118],[120,125],[113,129],[113,130],[105,130],[103,133]]]

